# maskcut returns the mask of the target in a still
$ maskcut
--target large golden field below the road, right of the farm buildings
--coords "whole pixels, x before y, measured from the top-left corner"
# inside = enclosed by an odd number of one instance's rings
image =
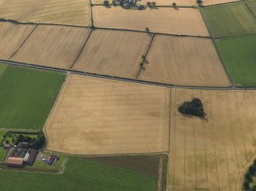
[[[47,149],[71,154],[168,150],[170,89],[70,75],[47,123]]]

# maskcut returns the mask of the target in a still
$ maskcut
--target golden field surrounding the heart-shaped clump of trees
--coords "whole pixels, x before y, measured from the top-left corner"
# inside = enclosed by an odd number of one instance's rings
[[[177,111],[193,97],[206,119]],[[169,190],[241,190],[244,165],[256,154],[256,92],[172,89],[171,104]]]

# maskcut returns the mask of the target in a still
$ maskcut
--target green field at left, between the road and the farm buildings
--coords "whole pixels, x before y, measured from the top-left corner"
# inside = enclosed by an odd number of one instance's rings
[[[0,78],[0,128],[42,129],[65,77],[9,65]]]

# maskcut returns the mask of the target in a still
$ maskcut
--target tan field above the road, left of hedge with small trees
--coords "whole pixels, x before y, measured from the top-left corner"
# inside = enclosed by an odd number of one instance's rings
[[[147,33],[94,30],[73,69],[136,78],[150,42]]]

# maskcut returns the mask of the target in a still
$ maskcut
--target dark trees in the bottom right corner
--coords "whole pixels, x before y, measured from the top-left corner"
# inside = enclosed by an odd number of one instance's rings
[[[256,177],[256,159],[254,160],[254,163],[251,164],[251,166],[245,173],[243,190],[251,190],[251,191],[256,190],[256,181],[254,180],[255,177]]]

